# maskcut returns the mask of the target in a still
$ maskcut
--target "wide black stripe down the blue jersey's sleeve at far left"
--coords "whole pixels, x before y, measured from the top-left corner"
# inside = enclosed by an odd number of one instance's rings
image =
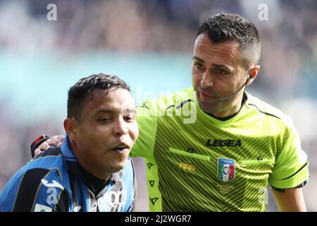
[[[49,173],[49,169],[35,168],[25,172],[13,206],[13,212],[30,212],[37,198],[41,179]]]

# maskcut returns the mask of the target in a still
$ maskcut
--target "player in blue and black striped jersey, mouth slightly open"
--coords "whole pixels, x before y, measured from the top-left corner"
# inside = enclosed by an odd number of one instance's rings
[[[132,211],[135,171],[127,157],[138,128],[130,88],[105,74],[80,79],[68,92],[64,128],[61,148],[38,155],[6,184],[0,211]]]

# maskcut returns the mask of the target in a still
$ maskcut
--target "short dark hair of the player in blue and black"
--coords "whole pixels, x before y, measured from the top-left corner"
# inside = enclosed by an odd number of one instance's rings
[[[106,90],[106,94],[108,94],[110,89],[116,90],[118,88],[123,88],[131,92],[125,81],[117,76],[99,73],[87,78],[81,78],[68,90],[67,117],[74,117],[77,121],[80,121],[82,107],[85,105],[85,101],[87,101],[89,95],[90,100],[94,98],[92,95],[94,90]]]

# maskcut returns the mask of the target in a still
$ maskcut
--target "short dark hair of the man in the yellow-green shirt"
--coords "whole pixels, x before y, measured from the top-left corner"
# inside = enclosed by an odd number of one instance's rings
[[[242,64],[246,69],[258,64],[261,52],[259,31],[246,18],[233,13],[218,13],[201,23],[196,37],[203,32],[213,43],[235,40],[240,46]]]

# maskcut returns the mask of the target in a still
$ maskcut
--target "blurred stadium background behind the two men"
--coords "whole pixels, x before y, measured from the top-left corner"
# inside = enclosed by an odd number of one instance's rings
[[[48,21],[46,6],[57,6]],[[268,20],[259,20],[259,4]],[[306,205],[317,210],[317,1],[0,1],[0,191],[30,160],[42,133],[63,133],[68,88],[92,73],[123,78],[137,104],[191,85],[194,35],[213,13],[239,13],[259,28],[261,71],[247,88],[289,114],[310,160]],[[147,211],[142,159],[137,210]],[[277,208],[271,197],[267,211]]]

